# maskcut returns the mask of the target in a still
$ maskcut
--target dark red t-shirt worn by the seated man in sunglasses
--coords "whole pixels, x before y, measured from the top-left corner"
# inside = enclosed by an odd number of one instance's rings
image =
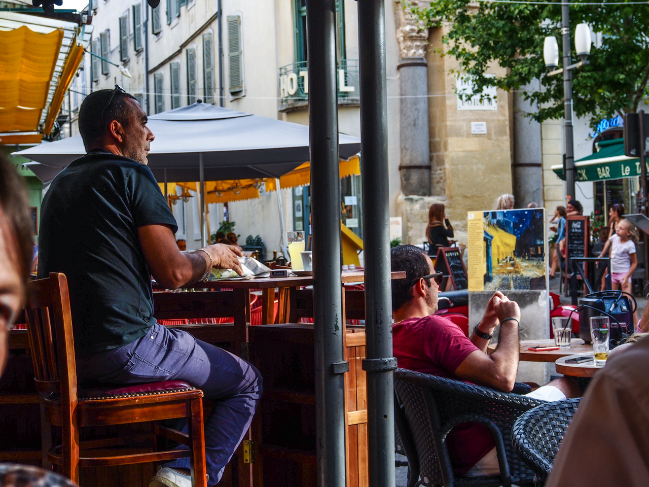
[[[441,316],[409,318],[392,326],[393,353],[400,368],[447,377],[455,375],[467,356],[478,350],[458,325]],[[462,423],[447,436],[448,455],[456,474],[467,473],[495,446],[487,427]]]

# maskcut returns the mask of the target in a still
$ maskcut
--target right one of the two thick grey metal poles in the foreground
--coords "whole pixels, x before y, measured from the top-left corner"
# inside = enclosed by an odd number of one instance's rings
[[[369,485],[395,485],[385,2],[358,0]],[[312,180],[313,181],[313,180]]]

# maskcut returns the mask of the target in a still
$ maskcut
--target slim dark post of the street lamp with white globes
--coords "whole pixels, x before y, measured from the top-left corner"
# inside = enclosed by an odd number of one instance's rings
[[[561,35],[563,36],[563,106],[565,116],[566,196],[574,199],[574,143],[572,142],[572,71],[570,66],[570,17],[568,2],[561,6]]]

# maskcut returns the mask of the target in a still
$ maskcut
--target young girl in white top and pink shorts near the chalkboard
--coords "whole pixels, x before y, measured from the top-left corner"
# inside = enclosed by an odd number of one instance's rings
[[[631,275],[638,266],[638,258],[635,255],[635,243],[638,242],[638,232],[635,225],[624,218],[617,224],[615,235],[609,238],[600,257],[606,255],[611,246],[611,287],[631,293]],[[637,323],[637,316],[633,314],[633,320]]]

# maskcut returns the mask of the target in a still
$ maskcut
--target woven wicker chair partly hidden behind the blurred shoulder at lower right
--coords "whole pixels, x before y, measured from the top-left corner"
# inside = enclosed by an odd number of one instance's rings
[[[536,406],[523,413],[511,428],[511,444],[535,473],[534,485],[545,484],[563,434],[582,398]]]

